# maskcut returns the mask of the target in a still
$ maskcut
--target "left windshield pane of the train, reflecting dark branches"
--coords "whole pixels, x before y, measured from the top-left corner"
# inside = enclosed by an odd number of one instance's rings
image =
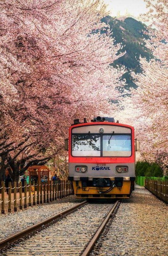
[[[100,156],[100,135],[72,135],[72,156]]]

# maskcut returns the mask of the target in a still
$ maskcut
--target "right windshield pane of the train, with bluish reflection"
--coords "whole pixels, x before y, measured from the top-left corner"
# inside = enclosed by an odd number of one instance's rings
[[[103,135],[102,156],[131,156],[131,135]]]

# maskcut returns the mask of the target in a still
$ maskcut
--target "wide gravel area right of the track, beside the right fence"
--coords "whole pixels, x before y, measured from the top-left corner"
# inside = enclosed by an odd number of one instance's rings
[[[168,256],[168,206],[145,188],[135,188],[96,245],[92,256]]]

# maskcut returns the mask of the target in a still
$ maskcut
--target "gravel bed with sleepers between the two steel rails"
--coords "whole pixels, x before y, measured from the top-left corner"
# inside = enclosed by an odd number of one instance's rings
[[[112,203],[86,204],[11,248],[5,255],[79,256],[112,206]]]

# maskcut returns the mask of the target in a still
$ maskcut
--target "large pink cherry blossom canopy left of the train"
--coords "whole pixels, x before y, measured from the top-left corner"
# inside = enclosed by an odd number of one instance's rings
[[[16,180],[62,149],[74,118],[111,108],[124,68],[109,67],[121,46],[100,33],[100,0],[3,0],[0,11],[1,172]]]

